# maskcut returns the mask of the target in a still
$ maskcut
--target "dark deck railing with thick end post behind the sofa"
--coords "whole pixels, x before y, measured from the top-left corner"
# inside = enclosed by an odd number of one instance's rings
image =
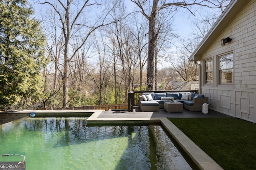
[[[196,92],[198,90],[153,90],[153,91],[131,91],[128,92],[128,111],[133,111],[134,106],[138,106],[140,103],[140,94],[145,92],[157,92],[157,93],[165,93],[165,92]]]

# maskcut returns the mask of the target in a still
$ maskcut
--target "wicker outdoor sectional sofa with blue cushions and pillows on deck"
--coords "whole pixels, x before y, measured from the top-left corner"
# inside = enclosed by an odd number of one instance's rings
[[[150,97],[151,96],[151,97]],[[141,111],[159,111],[164,108],[164,102],[169,102],[170,98],[183,103],[183,108],[189,111],[202,111],[202,105],[208,104],[208,97],[203,94],[192,92],[145,92],[139,96]]]

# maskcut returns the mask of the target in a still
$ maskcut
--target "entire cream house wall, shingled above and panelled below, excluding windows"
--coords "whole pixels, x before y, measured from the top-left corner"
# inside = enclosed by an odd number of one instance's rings
[[[221,45],[221,39],[232,41]],[[218,55],[233,52],[234,85],[218,83]],[[213,83],[204,84],[204,61],[213,60]],[[202,93],[216,111],[256,122],[256,0],[251,0],[202,55]]]

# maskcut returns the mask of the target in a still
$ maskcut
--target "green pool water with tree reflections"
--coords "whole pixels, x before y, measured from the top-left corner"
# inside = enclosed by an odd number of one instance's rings
[[[87,127],[86,117],[28,118],[0,125],[0,155],[26,170],[190,170],[160,125]],[[21,161],[21,156],[0,156]]]

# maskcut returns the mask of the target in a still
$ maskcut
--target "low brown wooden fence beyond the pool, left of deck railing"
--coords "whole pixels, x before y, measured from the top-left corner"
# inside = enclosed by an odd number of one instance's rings
[[[110,109],[128,109],[128,104],[106,104],[92,106],[67,107],[68,110],[110,110]]]

